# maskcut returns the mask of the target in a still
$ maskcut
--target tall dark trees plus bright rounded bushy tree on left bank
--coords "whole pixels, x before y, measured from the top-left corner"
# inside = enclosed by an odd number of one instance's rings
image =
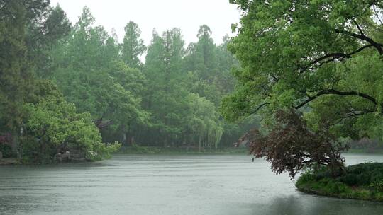
[[[12,150],[26,162],[51,162],[64,149],[108,157],[118,144],[103,144],[89,113],[77,113],[48,80],[52,47],[71,31],[60,6],[0,1],[0,11],[0,133],[11,136]]]

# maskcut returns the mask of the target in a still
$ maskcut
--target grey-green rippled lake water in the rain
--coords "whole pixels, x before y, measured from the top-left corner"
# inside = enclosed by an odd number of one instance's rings
[[[383,156],[345,156],[348,164]],[[382,214],[383,203],[296,191],[250,156],[114,156],[109,161],[0,167],[0,214]]]

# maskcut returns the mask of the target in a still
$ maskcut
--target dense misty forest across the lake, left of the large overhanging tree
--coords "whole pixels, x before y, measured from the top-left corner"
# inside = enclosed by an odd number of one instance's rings
[[[207,25],[189,45],[179,28],[153,30],[146,47],[138,24],[126,23],[119,41],[87,7],[73,24],[45,0],[1,1],[0,10],[0,135],[19,158],[99,159],[114,142],[204,151],[232,146],[256,124],[219,112],[238,62],[231,39],[217,45]]]

